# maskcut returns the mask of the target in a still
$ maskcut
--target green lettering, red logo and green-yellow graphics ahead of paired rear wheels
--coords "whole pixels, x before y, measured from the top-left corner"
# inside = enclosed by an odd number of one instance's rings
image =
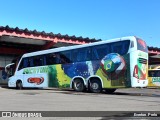
[[[23,74],[30,76],[27,78],[28,83],[36,84],[39,87],[69,87],[70,86],[71,78],[69,78],[64,73],[61,65],[49,65],[45,67],[25,68],[23,71]]]

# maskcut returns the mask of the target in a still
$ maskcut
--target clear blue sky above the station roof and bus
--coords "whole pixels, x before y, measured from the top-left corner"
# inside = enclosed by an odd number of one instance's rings
[[[160,48],[160,0],[0,0],[0,26],[108,40],[137,36]]]

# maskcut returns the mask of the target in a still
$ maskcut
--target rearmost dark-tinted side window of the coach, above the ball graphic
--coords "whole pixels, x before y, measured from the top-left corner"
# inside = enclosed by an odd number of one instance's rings
[[[112,53],[118,53],[120,55],[126,54],[129,49],[129,43],[129,40],[112,43]]]

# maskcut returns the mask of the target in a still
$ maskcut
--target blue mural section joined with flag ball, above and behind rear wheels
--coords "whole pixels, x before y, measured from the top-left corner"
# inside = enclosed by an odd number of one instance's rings
[[[102,60],[77,62],[62,65],[64,73],[69,77],[82,76],[87,79],[92,75],[101,77],[104,86],[124,86],[126,75],[126,62],[117,53],[106,55]],[[112,81],[111,81],[112,80]],[[116,80],[119,80],[118,84]]]

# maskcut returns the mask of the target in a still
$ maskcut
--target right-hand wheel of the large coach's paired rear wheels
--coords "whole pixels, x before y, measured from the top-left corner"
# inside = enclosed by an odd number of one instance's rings
[[[89,91],[92,93],[100,93],[102,91],[102,84],[99,79],[92,78],[89,82]]]

